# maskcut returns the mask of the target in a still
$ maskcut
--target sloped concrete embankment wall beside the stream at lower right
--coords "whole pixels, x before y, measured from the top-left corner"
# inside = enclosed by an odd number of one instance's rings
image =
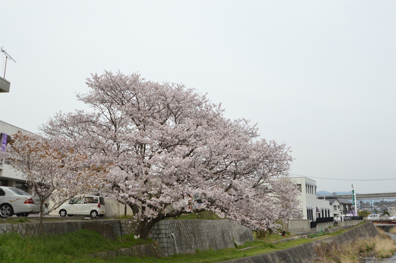
[[[335,244],[347,244],[355,241],[356,239],[373,238],[379,236],[377,228],[373,223],[365,223],[351,230],[342,233],[337,236],[328,237],[325,239],[320,239],[305,243],[296,247],[292,247],[285,250],[280,250],[276,252],[271,252],[267,254],[247,257],[243,259],[236,259],[232,263],[253,263],[253,262],[265,262],[265,263],[279,263],[279,262],[314,262],[318,257],[315,252],[315,247],[319,246],[322,242]]]

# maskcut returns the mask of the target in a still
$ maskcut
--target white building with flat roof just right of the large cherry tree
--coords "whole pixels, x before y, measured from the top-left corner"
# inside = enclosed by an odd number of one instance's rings
[[[333,217],[332,207],[328,200],[318,199],[316,196],[316,181],[306,177],[290,177],[297,183],[297,189],[301,192],[297,198],[300,201],[302,218],[316,220],[316,218]]]

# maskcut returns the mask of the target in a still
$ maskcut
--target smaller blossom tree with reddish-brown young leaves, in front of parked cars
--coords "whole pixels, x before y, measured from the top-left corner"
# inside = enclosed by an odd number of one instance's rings
[[[46,214],[72,196],[97,191],[103,183],[105,169],[93,164],[87,155],[75,151],[64,139],[49,140],[18,132],[12,135],[6,155],[40,201],[39,235]]]

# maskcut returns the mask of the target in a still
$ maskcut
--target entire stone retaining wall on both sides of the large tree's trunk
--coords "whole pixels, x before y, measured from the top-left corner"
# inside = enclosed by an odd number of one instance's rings
[[[67,220],[43,222],[43,233],[64,234],[84,229],[84,222],[108,223],[115,236],[135,234],[137,224],[131,219]],[[21,236],[37,236],[39,223],[0,223],[0,234],[17,232]],[[173,234],[173,235],[172,235]],[[194,253],[197,249],[223,249],[243,245],[253,240],[249,228],[224,220],[162,220],[156,223],[149,235],[158,244],[164,256]],[[177,248],[177,249],[176,249]],[[123,253],[123,252],[121,252]]]

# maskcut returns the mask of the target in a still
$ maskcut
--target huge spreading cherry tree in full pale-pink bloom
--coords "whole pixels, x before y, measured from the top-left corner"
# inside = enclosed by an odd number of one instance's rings
[[[148,236],[161,219],[211,210],[258,230],[298,216],[284,143],[259,138],[246,120],[181,84],[105,71],[77,95],[90,111],[57,113],[42,127],[51,139],[109,164],[101,194],[128,204]]]

